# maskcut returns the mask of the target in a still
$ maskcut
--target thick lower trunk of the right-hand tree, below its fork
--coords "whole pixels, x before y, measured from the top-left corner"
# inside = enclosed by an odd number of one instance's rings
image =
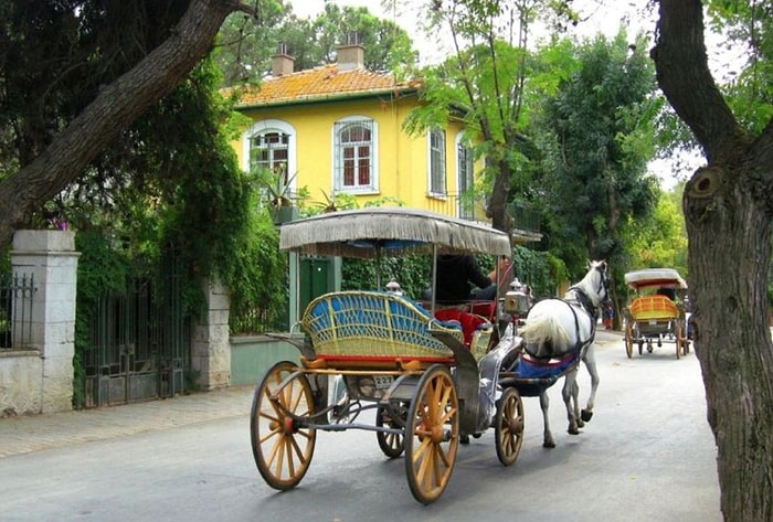
[[[731,164],[744,169],[743,158]],[[709,167],[685,189],[693,339],[727,521],[773,520],[773,345],[767,326],[770,214]],[[753,232],[752,232],[753,231]]]

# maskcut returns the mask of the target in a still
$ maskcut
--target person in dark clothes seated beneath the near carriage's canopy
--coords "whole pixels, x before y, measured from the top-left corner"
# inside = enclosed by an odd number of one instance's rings
[[[510,259],[502,256],[499,259],[500,278],[511,277],[511,270]],[[437,258],[435,300],[445,305],[468,302],[470,299],[490,301],[497,295],[496,280],[497,270],[486,276],[473,255],[442,255]]]

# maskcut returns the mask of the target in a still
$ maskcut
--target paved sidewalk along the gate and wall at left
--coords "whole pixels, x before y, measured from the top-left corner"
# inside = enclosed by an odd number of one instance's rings
[[[0,418],[0,459],[12,455],[248,415],[254,386],[176,398]]]

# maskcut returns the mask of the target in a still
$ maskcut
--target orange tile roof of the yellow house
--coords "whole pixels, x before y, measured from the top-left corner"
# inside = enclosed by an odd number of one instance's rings
[[[389,73],[373,73],[363,68],[338,71],[337,64],[308,71],[268,77],[260,85],[240,87],[237,107],[319,102],[331,97],[362,96],[385,92],[415,89],[421,82],[396,83]],[[235,89],[226,89],[229,96]]]

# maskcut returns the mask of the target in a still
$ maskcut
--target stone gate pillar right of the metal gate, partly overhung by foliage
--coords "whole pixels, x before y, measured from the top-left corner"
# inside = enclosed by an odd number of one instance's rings
[[[226,387],[231,383],[227,289],[221,283],[204,283],[207,313],[193,331],[191,366],[199,373],[201,390]]]

